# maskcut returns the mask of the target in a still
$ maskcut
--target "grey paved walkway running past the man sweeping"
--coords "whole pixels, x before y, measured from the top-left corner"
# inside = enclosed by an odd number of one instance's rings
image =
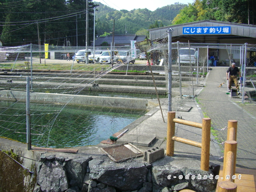
[[[242,104],[242,99],[226,94],[226,71],[227,67],[213,67],[210,70],[205,87],[197,97],[199,106],[204,115],[212,119],[216,129],[228,126],[228,120],[238,121],[236,166],[256,169],[256,104]],[[223,87],[219,87],[223,82]],[[227,129],[217,134],[221,142],[227,140]]]

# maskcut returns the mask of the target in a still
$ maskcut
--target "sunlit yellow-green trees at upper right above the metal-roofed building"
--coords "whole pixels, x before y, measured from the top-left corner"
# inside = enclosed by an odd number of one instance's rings
[[[255,25],[255,5],[255,0],[196,0],[183,8],[172,23],[217,20]]]

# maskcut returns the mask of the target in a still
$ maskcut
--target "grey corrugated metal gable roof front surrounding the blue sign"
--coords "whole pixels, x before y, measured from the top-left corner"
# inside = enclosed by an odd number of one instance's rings
[[[172,28],[172,36],[184,36],[182,33],[183,27],[231,27],[231,33],[233,36],[243,36],[256,38],[256,25],[247,25],[240,23],[230,23],[224,21],[202,20],[194,21],[190,23],[183,23],[178,25],[171,25],[161,28],[148,29],[150,39],[163,39],[167,36],[166,29]],[[221,36],[225,34],[186,34],[186,36]]]

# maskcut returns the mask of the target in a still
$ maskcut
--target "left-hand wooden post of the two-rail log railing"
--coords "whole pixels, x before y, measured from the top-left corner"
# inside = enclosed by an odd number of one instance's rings
[[[168,111],[168,118],[167,118],[167,138],[166,138],[166,155],[173,156],[174,155],[174,140],[172,137],[175,134],[175,123],[172,119],[175,118],[175,112]]]

